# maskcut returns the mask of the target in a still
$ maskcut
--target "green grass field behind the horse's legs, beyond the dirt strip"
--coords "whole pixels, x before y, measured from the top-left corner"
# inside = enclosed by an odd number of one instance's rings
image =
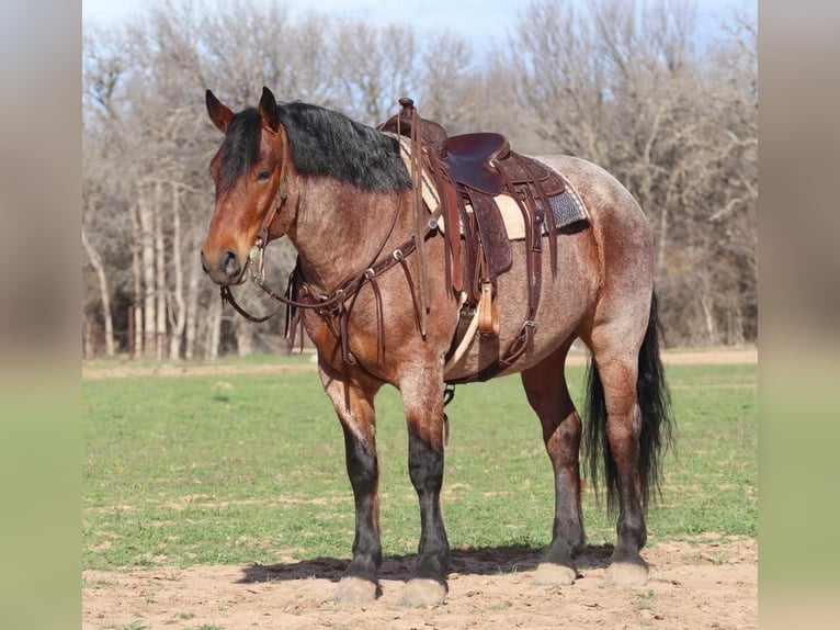
[[[258,361],[259,362],[259,361]],[[754,365],[669,367],[678,449],[649,540],[757,536]],[[582,393],[583,369],[569,368]],[[341,429],[315,372],[84,380],[83,565],[125,569],[348,558],[353,502]],[[419,511],[399,396],[377,397],[383,545],[413,553]],[[553,482],[518,376],[461,386],[447,407],[450,542],[548,543]],[[584,497],[592,543],[614,519]]]

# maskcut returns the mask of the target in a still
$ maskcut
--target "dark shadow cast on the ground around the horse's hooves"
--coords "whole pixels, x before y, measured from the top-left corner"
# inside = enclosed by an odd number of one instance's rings
[[[463,575],[499,575],[533,571],[540,563],[543,549],[525,545],[481,547],[452,550],[450,573]],[[603,569],[609,564],[612,544],[590,544],[577,559],[578,569]],[[383,560],[378,577],[408,580],[416,555],[390,555]],[[338,582],[350,564],[347,559],[314,558],[284,564],[256,564],[242,569],[238,584],[256,582],[284,582],[317,577]]]

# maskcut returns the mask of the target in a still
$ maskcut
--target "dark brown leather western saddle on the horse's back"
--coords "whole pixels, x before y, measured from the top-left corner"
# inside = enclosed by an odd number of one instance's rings
[[[421,119],[413,101],[399,100],[400,112],[379,126],[383,132],[410,138],[411,171],[415,178],[415,211],[418,216],[422,171],[425,170],[440,200],[438,209],[430,207],[432,220],[443,216],[446,230],[446,282],[454,293],[464,292],[458,333],[450,355],[461,342],[472,318],[478,311],[478,331],[486,337],[499,333],[497,278],[512,263],[511,245],[496,196],[507,194],[515,200],[525,226],[525,258],[527,272],[527,313],[514,341],[499,360],[483,370],[474,381],[484,381],[503,371],[531,345],[536,330],[536,310],[542,285],[542,236],[548,235],[552,273],[557,272],[557,227],[549,198],[564,192],[564,180],[533,158],[511,150],[504,136],[496,133],[472,133],[447,136],[442,125]],[[427,221],[419,221],[424,224]],[[458,229],[461,226],[461,229]],[[463,237],[463,238],[462,238]],[[422,243],[422,239],[420,239]],[[465,248],[462,265],[461,248]],[[421,255],[425,289],[425,265]],[[421,326],[424,333],[424,328]],[[466,382],[458,381],[458,382]]]

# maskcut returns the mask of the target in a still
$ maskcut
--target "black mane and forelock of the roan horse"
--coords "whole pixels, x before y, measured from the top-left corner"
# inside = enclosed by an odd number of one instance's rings
[[[299,173],[331,177],[370,192],[410,188],[395,138],[339,112],[300,101],[277,104],[277,115]],[[261,128],[254,108],[234,115],[222,145],[223,190],[232,187],[259,158]]]

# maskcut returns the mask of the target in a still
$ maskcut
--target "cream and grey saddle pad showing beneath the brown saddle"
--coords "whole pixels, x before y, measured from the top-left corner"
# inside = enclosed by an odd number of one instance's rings
[[[400,157],[406,168],[411,172],[411,140],[406,136],[397,136],[396,134],[387,133],[387,135],[397,138],[400,146]],[[558,173],[563,177],[563,173]],[[554,214],[554,224],[559,229],[566,227],[578,221],[588,221],[589,211],[587,211],[583,201],[580,199],[578,191],[571,185],[568,179],[563,177],[563,181],[566,184],[565,190],[560,194],[548,198],[548,203],[552,206],[552,214]],[[429,173],[423,169],[422,173],[422,196],[429,213],[433,213],[440,206],[440,198],[438,191],[432,185],[432,179]],[[504,222],[504,228],[508,232],[509,240],[524,240],[525,238],[525,221],[522,218],[522,211],[519,209],[517,201],[509,194],[499,194],[493,198],[496,204],[499,206],[502,221]],[[469,211],[469,203],[466,203]],[[438,220],[438,228],[441,232],[445,232],[446,226],[443,217]],[[543,234],[547,234],[547,226],[543,225]]]

